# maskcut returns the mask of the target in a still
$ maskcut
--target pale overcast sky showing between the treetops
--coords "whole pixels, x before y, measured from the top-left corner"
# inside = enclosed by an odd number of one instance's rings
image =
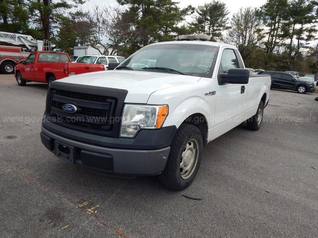
[[[187,5],[198,6],[206,2],[212,2],[212,0],[177,0],[181,7],[186,7]],[[231,15],[239,10],[240,7],[258,7],[263,5],[266,0],[221,0],[225,2],[228,6],[228,9],[231,12]],[[89,0],[83,5],[83,9],[93,8],[95,5],[118,5],[116,0]]]

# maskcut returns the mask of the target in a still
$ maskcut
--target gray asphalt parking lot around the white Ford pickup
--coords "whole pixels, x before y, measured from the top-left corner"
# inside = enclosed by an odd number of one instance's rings
[[[46,91],[0,75],[0,238],[318,237],[317,92],[271,90],[262,128],[208,144],[192,185],[174,192],[48,152]]]

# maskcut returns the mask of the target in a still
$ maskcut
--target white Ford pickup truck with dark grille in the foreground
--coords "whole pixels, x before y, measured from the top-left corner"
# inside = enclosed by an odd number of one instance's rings
[[[244,69],[234,46],[156,43],[115,70],[54,81],[41,140],[72,163],[116,176],[158,175],[182,190],[205,144],[244,121],[260,128],[270,84],[269,75]]]

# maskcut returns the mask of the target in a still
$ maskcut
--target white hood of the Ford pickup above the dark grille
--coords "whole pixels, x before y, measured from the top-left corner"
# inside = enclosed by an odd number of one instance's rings
[[[150,95],[158,90],[184,84],[193,84],[200,77],[180,74],[110,70],[73,75],[56,80],[53,83],[65,82],[96,87],[124,89],[128,91],[125,103],[147,103]]]

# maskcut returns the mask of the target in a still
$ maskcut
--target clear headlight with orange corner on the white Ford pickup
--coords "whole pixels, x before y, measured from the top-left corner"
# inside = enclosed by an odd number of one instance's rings
[[[124,107],[120,136],[134,137],[140,129],[158,129],[168,115],[168,106],[126,104]]]

